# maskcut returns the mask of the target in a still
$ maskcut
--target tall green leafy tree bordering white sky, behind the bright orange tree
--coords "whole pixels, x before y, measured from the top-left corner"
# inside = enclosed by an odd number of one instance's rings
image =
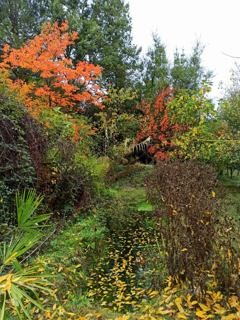
[[[129,5],[124,0],[53,0],[49,3],[52,21],[69,21],[79,39],[68,55],[74,63],[86,60],[104,69],[105,84],[128,87],[136,79],[141,49],[132,44]]]

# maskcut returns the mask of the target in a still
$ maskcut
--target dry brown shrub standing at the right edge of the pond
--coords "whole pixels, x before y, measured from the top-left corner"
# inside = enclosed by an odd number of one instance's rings
[[[217,237],[216,178],[211,166],[195,161],[159,161],[146,186],[159,220],[169,275],[187,277],[192,288],[202,292],[207,290],[205,270],[212,265]]]

